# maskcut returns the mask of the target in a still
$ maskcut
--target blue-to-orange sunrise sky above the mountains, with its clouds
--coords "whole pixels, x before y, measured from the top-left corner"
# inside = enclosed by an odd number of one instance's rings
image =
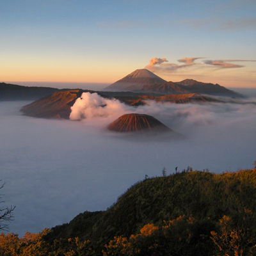
[[[0,0],[0,82],[114,83],[138,68],[256,88],[255,0]]]

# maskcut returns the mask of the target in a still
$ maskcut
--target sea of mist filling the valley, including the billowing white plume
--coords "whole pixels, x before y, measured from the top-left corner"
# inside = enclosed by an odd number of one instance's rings
[[[0,102],[2,206],[16,205],[10,232],[40,232],[84,211],[105,210],[132,184],[193,170],[235,172],[256,160],[255,99],[246,104],[157,104],[133,108],[84,94],[73,120],[22,116],[29,102]],[[125,113],[152,115],[187,140],[130,140],[106,131]],[[76,121],[80,120],[80,121]]]

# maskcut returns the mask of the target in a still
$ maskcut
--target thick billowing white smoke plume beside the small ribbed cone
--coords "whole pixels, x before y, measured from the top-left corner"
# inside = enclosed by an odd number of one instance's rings
[[[71,120],[92,119],[97,117],[117,118],[131,111],[124,103],[116,99],[105,99],[97,93],[84,92],[71,107]]]

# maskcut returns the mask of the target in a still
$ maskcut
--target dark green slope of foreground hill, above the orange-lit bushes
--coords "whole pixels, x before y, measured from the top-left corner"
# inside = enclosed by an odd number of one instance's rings
[[[69,224],[52,228],[46,239],[90,239],[100,252],[114,237],[129,238],[140,234],[145,225],[161,227],[166,221],[185,216],[197,221],[196,232],[207,236],[204,243],[209,243],[211,231],[218,229],[223,216],[238,220],[244,209],[254,218],[256,169],[214,174],[188,168],[168,177],[145,179],[128,189],[107,211],[79,214]]]

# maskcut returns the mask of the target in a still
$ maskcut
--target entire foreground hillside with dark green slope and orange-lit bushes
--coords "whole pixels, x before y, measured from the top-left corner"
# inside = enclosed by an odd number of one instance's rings
[[[256,169],[188,168],[138,182],[107,211],[36,234],[48,253],[36,255],[256,255],[255,208]]]

